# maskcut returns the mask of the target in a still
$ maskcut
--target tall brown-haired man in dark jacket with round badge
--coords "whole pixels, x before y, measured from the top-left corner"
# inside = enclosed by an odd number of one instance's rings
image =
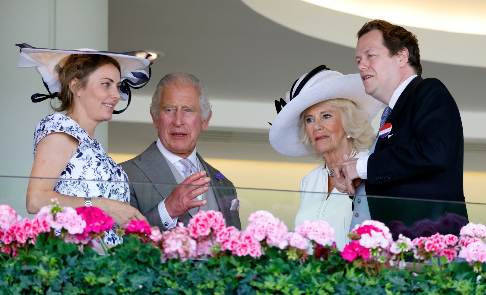
[[[354,194],[356,180],[362,179],[366,195],[402,199],[368,197],[366,215],[360,212],[365,199],[357,197],[355,217],[401,221],[406,227],[424,218],[442,220],[445,213],[463,216],[457,218],[461,224],[467,221],[465,204],[411,200],[465,201],[459,110],[444,84],[420,77],[415,35],[383,20],[370,21],[358,32],[356,62],[365,92],[387,107],[370,154],[344,155],[336,186]]]

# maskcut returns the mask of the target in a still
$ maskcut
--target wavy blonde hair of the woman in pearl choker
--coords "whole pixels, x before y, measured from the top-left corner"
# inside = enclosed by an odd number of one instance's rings
[[[341,115],[341,124],[347,135],[352,139],[358,152],[371,147],[375,139],[375,132],[371,127],[368,114],[361,110],[354,102],[346,98],[334,98],[316,103],[319,106],[334,106]],[[316,156],[322,158],[322,154],[316,152],[311,144],[311,138],[305,129],[304,112],[300,113],[298,121],[299,139],[304,147]]]

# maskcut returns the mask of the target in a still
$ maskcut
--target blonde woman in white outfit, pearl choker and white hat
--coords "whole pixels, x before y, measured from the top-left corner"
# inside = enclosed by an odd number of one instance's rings
[[[278,115],[269,134],[272,147],[287,156],[315,155],[324,161],[300,183],[295,226],[304,220],[327,221],[340,250],[348,243],[353,204],[334,188],[334,169],[343,164],[343,154],[367,154],[375,136],[370,122],[381,106],[364,92],[359,74],[343,75],[326,66],[300,77],[286,101],[276,101]]]

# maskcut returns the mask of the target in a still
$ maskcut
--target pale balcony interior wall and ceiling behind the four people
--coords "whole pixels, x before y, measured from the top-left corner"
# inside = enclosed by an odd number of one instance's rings
[[[469,6],[475,3],[466,2]],[[466,2],[457,5],[467,6]],[[33,130],[43,117],[53,113],[48,101],[30,102],[30,95],[42,93],[44,87],[35,71],[17,68],[18,49],[14,44],[23,42],[44,48],[119,52],[145,49],[165,54],[152,66],[152,80],[133,91],[128,110],[114,115],[97,129],[99,135],[95,136],[117,163],[134,157],[156,140],[148,107],[158,80],[170,72],[187,71],[206,85],[213,108],[208,131],[199,138],[197,151],[235,186],[295,191],[300,179],[319,165],[312,157],[286,157],[270,146],[268,122],[277,115],[274,100],[284,97],[297,78],[321,64],[343,74],[356,73],[355,34],[368,19],[300,0],[86,0],[80,3],[0,0],[0,25],[9,28],[0,32],[3,41],[0,49],[5,52],[0,57],[4,66],[0,83],[5,90],[0,119],[2,126],[11,127],[0,129],[0,175],[30,174]],[[296,5],[302,10],[294,9]],[[305,9],[312,11],[312,16],[322,15],[320,18],[328,23],[312,17],[305,20],[311,16]],[[484,10],[484,5],[478,9]],[[72,19],[82,19],[82,22]],[[306,28],[314,30],[307,33]],[[459,41],[455,41],[428,37],[431,30],[407,28],[419,32],[422,76],[440,79],[461,112],[466,200],[486,203],[482,198],[482,184],[486,180],[486,129],[483,127],[486,60],[477,53],[486,44],[486,33],[447,33],[457,37]],[[92,40],[93,35],[96,42]],[[326,40],[335,35],[349,37],[344,41]],[[483,43],[464,41],[468,38]],[[124,107],[122,104],[117,109]],[[21,126],[12,123],[17,114],[24,115]],[[373,121],[375,130],[378,124],[379,118]],[[22,193],[25,188],[13,195],[18,197]],[[292,203],[298,206],[299,196],[294,195]],[[15,197],[6,197],[7,201],[0,197],[0,203],[9,203],[8,199]],[[260,197],[259,201],[276,200]],[[250,209],[258,210],[257,205],[254,202]]]

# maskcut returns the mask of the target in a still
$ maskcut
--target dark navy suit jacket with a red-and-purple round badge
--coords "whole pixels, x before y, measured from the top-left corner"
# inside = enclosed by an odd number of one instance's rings
[[[413,79],[400,95],[387,123],[390,137],[378,138],[368,159],[366,195],[371,218],[406,226],[446,212],[467,216],[464,204],[414,202],[408,198],[464,202],[464,136],[457,105],[437,79]]]

